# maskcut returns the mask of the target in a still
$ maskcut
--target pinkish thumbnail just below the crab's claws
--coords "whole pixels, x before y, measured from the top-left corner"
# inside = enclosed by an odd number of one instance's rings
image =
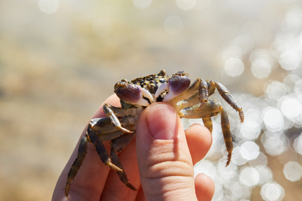
[[[174,139],[177,136],[177,115],[171,105],[154,104],[147,112],[147,124],[154,139]]]

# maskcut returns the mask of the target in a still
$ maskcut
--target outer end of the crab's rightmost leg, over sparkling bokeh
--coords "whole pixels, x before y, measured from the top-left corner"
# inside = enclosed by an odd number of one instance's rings
[[[220,96],[227,101],[227,103],[234,108],[237,112],[239,112],[240,123],[243,123],[244,114],[242,111],[242,107],[239,102],[229,93],[227,88],[219,82],[215,82],[215,86]]]

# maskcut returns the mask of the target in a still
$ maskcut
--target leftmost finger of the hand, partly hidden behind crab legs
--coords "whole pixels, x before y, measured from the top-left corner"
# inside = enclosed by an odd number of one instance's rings
[[[119,99],[116,95],[112,95],[107,100],[106,103],[110,103],[114,106],[119,106]],[[103,103],[104,104],[104,103]],[[102,104],[102,105],[103,105]],[[97,117],[106,117],[103,112],[102,105],[98,108],[96,113],[93,115],[93,118]],[[79,139],[82,138],[86,134],[87,126],[82,132]],[[67,200],[65,197],[64,191],[67,181],[68,172],[76,159],[77,148],[79,141],[76,145],[75,150],[72,153],[71,158],[68,163],[64,167],[58,182],[56,184],[52,200],[53,201],[63,201]],[[108,143],[104,144],[105,146],[109,146]],[[88,143],[88,150],[86,157],[83,161],[82,166],[77,172],[75,179],[71,183],[69,196],[72,200],[99,200],[101,193],[103,191],[108,173],[110,168],[105,166],[99,155],[96,152],[95,146],[91,143]]]

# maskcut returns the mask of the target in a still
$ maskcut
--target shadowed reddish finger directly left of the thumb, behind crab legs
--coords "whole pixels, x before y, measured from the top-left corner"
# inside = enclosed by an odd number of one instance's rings
[[[125,173],[135,188],[139,189],[141,182],[139,170],[136,160],[135,139],[132,140],[118,157],[124,167]],[[138,191],[133,191],[122,183],[113,170],[109,172],[104,190],[102,192],[101,201],[134,201]]]

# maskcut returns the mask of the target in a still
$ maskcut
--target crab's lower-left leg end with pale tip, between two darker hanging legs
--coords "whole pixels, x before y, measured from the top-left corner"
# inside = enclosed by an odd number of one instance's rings
[[[106,150],[106,148],[105,148],[102,140],[100,139],[100,137],[96,133],[94,133],[91,130],[90,124],[88,125],[87,134],[88,134],[88,136],[90,138],[91,143],[94,144],[94,146],[95,146],[95,148],[96,148],[96,150],[97,150],[97,152],[98,152],[98,154],[99,154],[102,162],[105,165],[109,166],[110,168],[114,169],[115,171],[123,171],[123,169],[115,166],[112,163],[112,161],[111,161],[111,159],[110,159],[110,157],[109,157],[109,155],[107,153],[107,150]]]

